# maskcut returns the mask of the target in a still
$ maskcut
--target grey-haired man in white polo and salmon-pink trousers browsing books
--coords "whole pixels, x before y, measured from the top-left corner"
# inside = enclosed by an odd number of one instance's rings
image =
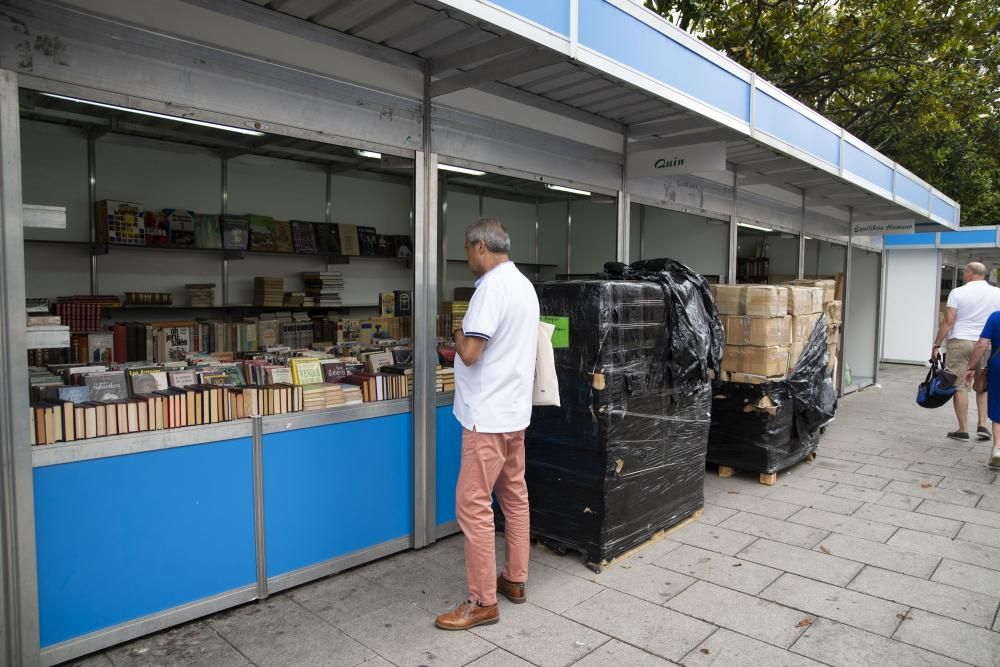
[[[508,253],[510,237],[498,220],[484,218],[465,230],[466,258],[478,280],[455,333],[455,417],[462,424],[455,513],[465,534],[469,597],[437,617],[435,624],[443,630],[499,621],[497,592],[515,603],[526,599],[530,530],[524,429],[531,421],[538,297]],[[507,547],[499,576],[494,491]]]

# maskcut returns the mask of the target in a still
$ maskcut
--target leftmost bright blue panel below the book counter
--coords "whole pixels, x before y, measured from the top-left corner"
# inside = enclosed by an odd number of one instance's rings
[[[256,579],[249,438],[35,468],[42,646]]]

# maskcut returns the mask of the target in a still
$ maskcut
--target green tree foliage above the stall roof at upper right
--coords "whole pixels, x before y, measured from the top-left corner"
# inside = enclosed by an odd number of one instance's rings
[[[647,0],[1000,224],[1000,0]]]

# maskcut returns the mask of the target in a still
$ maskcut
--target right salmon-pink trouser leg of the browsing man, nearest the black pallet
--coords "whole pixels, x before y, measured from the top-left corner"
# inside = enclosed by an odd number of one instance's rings
[[[524,583],[528,580],[528,556],[531,551],[528,485],[524,481],[524,431],[504,435],[507,461],[494,487],[497,501],[503,510],[504,540],[507,545],[503,578]]]

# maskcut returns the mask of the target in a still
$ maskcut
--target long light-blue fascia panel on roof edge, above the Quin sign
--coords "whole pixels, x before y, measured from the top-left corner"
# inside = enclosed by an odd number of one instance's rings
[[[604,0],[580,0],[580,43],[750,121],[749,83]]]

